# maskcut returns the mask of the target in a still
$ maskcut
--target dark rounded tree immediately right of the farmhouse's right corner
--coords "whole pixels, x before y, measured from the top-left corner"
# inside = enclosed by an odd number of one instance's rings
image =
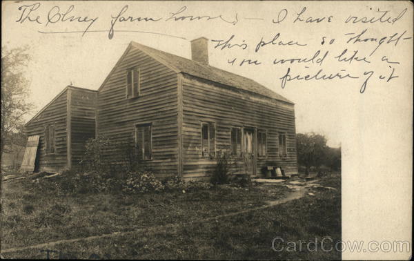
[[[326,137],[316,133],[298,133],[297,162],[306,168],[306,175],[309,174],[311,166],[319,167],[326,159]]]

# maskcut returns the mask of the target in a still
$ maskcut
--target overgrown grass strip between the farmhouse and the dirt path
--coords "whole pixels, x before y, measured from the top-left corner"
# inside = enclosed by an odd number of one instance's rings
[[[207,218],[261,206],[266,200],[258,187],[142,195],[57,195],[23,190],[26,187],[22,182],[3,184],[3,249]],[[283,197],[286,191],[279,189],[272,197]]]

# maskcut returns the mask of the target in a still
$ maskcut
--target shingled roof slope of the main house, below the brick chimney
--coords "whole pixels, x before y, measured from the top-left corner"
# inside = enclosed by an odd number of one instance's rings
[[[150,57],[157,59],[162,64],[172,68],[172,70],[175,70],[176,72],[184,72],[188,75],[208,79],[219,84],[247,90],[251,93],[257,93],[279,101],[284,101],[288,104],[293,104],[292,101],[289,101],[282,95],[279,95],[273,90],[262,86],[262,84],[258,84],[256,81],[253,81],[253,79],[248,79],[232,72],[227,72],[226,70],[221,70],[213,66],[207,66],[191,59],[186,59],[178,55],[172,55],[168,52],[150,48],[140,43],[136,43],[135,41],[131,41],[130,45],[145,52]]]

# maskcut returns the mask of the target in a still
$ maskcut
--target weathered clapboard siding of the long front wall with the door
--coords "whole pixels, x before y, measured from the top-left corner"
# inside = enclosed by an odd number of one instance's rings
[[[293,104],[190,75],[184,75],[182,95],[184,177],[204,177],[215,166],[215,160],[201,156],[201,122],[215,122],[217,151],[230,150],[232,126],[266,131],[267,156],[257,157],[257,174],[270,163],[282,166],[287,173],[297,173]],[[287,157],[283,159],[279,157],[279,132],[286,133]],[[242,160],[238,164],[242,166]]]

